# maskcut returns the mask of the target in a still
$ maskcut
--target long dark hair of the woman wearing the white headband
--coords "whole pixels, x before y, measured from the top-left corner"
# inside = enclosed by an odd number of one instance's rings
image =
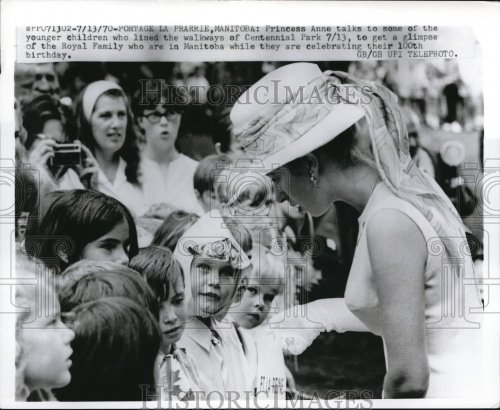
[[[93,153],[95,149],[95,139],[92,135],[90,123],[87,121],[83,113],[83,94],[85,93],[85,89],[86,87],[83,88],[83,90],[78,94],[75,100],[74,115],[76,117],[76,125],[78,129],[76,132],[76,136]],[[115,98],[123,98],[123,101],[125,102],[127,110],[125,142],[123,142],[123,146],[118,150],[118,155],[121,156],[126,162],[125,175],[127,181],[138,184],[139,149],[137,147],[137,136],[135,135],[135,132],[133,130],[133,117],[130,111],[130,107],[126,102],[126,97],[119,89],[116,88],[108,89],[107,91],[104,91],[100,96],[102,95],[108,95]]]

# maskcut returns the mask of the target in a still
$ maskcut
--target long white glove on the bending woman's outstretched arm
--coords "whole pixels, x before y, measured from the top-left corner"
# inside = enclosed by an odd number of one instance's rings
[[[322,331],[369,331],[345,305],[343,297],[314,300],[277,313],[269,327],[278,328],[285,353],[300,354]]]

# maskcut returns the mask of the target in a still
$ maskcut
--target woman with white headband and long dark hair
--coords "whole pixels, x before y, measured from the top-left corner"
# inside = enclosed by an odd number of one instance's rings
[[[141,216],[142,189],[138,178],[139,153],[132,117],[123,89],[113,81],[88,84],[76,100],[78,139],[99,165],[92,188],[122,202]]]

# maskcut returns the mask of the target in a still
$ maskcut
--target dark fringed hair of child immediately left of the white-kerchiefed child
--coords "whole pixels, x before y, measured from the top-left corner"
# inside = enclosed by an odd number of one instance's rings
[[[182,280],[184,272],[173,253],[165,246],[148,246],[139,249],[136,256],[130,259],[129,266],[139,272],[151,287],[158,301],[168,299],[170,283],[173,285]]]

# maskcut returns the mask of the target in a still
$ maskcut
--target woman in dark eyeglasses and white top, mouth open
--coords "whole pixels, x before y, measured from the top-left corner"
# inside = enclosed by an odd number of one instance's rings
[[[158,92],[151,90],[158,89]],[[147,92],[146,92],[147,90]],[[173,87],[142,84],[132,101],[132,110],[145,144],[140,153],[140,171],[147,208],[167,204],[202,215],[193,188],[194,159],[175,148],[182,106]]]

